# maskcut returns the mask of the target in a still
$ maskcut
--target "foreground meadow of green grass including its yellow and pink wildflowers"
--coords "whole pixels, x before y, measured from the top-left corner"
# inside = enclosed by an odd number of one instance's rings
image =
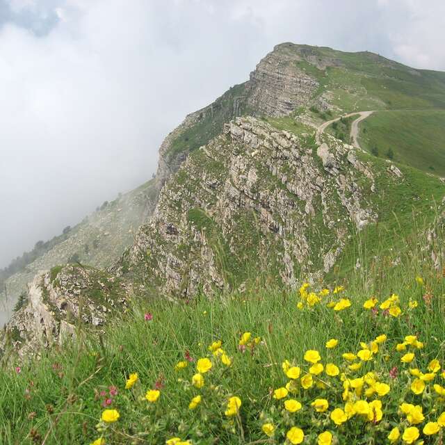
[[[327,289],[259,276],[135,300],[100,341],[79,325],[1,371],[2,444],[442,444],[445,289],[426,248],[419,233]]]

